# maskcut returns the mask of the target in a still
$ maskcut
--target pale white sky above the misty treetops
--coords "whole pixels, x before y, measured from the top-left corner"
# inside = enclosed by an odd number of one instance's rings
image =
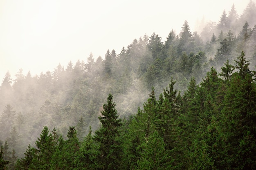
[[[165,41],[185,20],[193,32],[197,20],[218,22],[233,3],[240,15],[249,0],[0,0],[0,84],[8,70],[34,76],[86,63],[90,52],[104,59],[145,33]]]

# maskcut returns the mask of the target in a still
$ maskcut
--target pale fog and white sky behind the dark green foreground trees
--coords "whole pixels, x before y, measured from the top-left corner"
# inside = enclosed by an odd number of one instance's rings
[[[0,142],[19,143],[21,157],[43,126],[65,139],[69,126],[83,124],[81,141],[89,126],[99,128],[110,93],[126,119],[143,108],[152,86],[158,96],[173,78],[182,95],[191,77],[200,83],[212,66],[220,71],[229,29],[225,59],[234,63],[245,50],[254,68],[256,34],[245,41],[242,31],[246,22],[248,33],[256,31],[256,17],[244,14],[248,2],[1,1]],[[220,17],[233,3],[237,23],[222,28]],[[182,44],[186,24],[189,39]]]

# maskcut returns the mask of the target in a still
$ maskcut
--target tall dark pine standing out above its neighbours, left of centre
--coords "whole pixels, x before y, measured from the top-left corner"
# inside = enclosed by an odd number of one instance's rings
[[[118,119],[112,94],[108,95],[107,104],[103,104],[103,111],[99,120],[101,128],[95,131],[94,140],[99,142],[100,155],[97,163],[101,169],[119,169],[122,150],[120,148],[119,128],[122,125]]]

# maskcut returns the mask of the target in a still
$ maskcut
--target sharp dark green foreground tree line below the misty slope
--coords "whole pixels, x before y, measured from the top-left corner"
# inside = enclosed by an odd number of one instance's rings
[[[120,118],[112,94],[99,115],[101,125],[79,142],[74,126],[67,139],[43,127],[35,147],[13,162],[1,147],[0,165],[16,169],[255,169],[256,72],[245,53],[214,68],[181,96],[171,79],[157,99],[151,89],[143,109]]]

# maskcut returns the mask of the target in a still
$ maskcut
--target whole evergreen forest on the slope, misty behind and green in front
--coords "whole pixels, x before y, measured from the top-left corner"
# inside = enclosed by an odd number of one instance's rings
[[[0,169],[256,169],[256,4],[200,33],[59,64],[0,86]]]

